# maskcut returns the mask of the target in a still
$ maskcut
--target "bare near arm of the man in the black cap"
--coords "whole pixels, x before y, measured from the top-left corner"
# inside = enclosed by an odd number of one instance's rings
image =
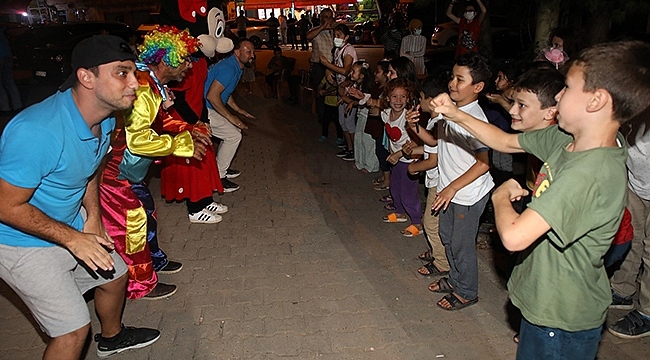
[[[81,233],[47,216],[29,203],[34,191],[0,179],[0,197],[3,199],[0,201],[0,221],[65,247],[92,270],[113,269],[113,259],[103,247],[112,247],[111,242],[101,236]]]

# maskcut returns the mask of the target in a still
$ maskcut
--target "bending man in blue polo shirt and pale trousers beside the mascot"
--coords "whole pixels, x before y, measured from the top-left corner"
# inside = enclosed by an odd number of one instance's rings
[[[241,131],[248,129],[243,121],[230,112],[226,104],[241,116],[249,119],[255,118],[240,108],[232,98],[232,93],[239,83],[244,66],[253,65],[255,47],[246,39],[234,41],[234,43],[233,54],[210,67],[208,78],[205,81],[205,98],[212,134],[222,140],[219,149],[217,149],[217,167],[224,192],[233,192],[239,189],[239,185],[228,179],[236,178],[240,173],[237,170],[229,169],[229,167],[241,142]]]

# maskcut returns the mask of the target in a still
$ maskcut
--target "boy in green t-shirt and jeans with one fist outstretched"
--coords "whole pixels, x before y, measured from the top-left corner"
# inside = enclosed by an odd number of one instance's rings
[[[504,246],[524,250],[508,282],[523,315],[517,358],[591,360],[611,302],[603,255],[625,205],[627,152],[618,129],[650,103],[650,45],[584,50],[556,99],[558,125],[522,134],[477,121],[444,94],[431,106],[496,150],[544,161],[523,213],[511,205],[528,193],[516,181],[492,195]]]

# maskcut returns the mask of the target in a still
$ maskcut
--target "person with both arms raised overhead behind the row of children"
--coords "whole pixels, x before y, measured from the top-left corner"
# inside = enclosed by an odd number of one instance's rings
[[[454,15],[452,10],[458,0],[452,0],[447,7],[447,17],[458,24],[458,45],[456,45],[456,57],[468,53],[478,52],[478,36],[481,33],[481,23],[485,19],[487,9],[481,0],[476,0],[480,14],[477,13],[476,7],[471,3],[465,6],[462,18]]]

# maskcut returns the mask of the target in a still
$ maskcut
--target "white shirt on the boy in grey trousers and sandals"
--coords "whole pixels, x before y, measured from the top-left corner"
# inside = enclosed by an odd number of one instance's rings
[[[488,122],[483,109],[478,105],[478,100],[461,106],[459,110],[481,121]],[[442,116],[438,115],[436,119],[442,119]],[[438,169],[440,171],[438,192],[467,172],[476,163],[475,153],[487,149],[487,146],[460,125],[443,119],[438,125]],[[493,187],[492,176],[489,172],[486,172],[458,190],[451,201],[458,205],[471,206],[481,200]]]

